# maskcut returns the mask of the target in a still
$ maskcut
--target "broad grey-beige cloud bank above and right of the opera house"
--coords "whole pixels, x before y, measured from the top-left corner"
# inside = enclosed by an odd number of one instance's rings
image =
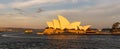
[[[78,9],[46,11],[45,14],[48,14],[47,16],[61,14],[70,21],[81,21],[82,24],[91,24],[92,27],[104,28],[111,27],[113,23],[120,21],[119,9],[120,3],[108,3]]]

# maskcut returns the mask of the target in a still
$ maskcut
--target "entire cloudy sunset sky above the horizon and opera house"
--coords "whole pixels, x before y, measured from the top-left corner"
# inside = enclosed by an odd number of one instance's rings
[[[66,17],[91,28],[111,28],[120,22],[120,0],[0,0],[0,27],[45,28]]]

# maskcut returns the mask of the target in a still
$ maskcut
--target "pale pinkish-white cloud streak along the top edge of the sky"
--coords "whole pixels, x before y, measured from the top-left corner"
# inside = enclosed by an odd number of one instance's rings
[[[118,0],[117,0],[118,1]],[[32,6],[44,6],[44,5],[56,5],[56,4],[66,4],[66,3],[94,3],[96,5],[98,4],[106,4],[106,3],[111,3],[111,2],[117,2],[113,0],[16,0],[16,2],[12,2],[10,6],[14,8],[28,8]]]

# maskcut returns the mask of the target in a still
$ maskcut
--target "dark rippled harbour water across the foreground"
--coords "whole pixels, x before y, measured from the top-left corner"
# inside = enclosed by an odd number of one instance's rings
[[[120,35],[7,35],[0,49],[120,49]]]

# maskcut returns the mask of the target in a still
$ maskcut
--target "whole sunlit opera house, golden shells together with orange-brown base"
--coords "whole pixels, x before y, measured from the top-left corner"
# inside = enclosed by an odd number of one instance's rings
[[[81,22],[70,23],[65,17],[58,15],[58,19],[53,19],[47,22],[48,28],[43,32],[44,34],[61,34],[69,33],[85,33],[91,25],[80,26]]]

